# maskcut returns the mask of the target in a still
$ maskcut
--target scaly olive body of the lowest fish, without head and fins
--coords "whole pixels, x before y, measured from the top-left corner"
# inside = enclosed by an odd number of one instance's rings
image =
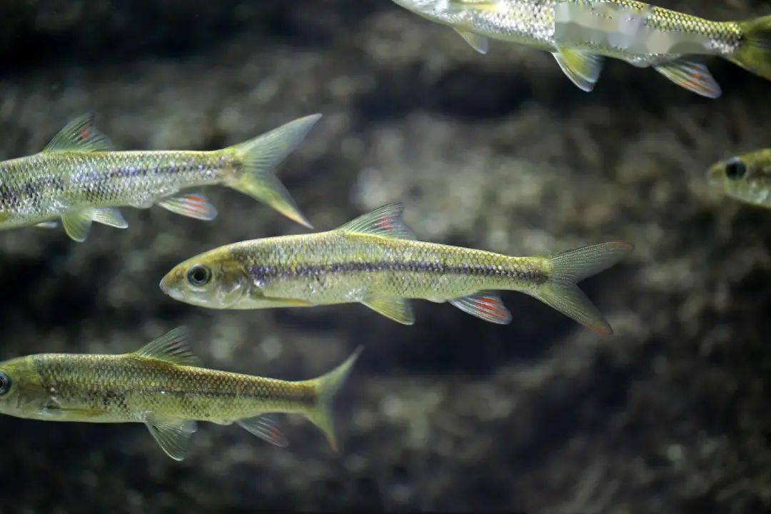
[[[311,385],[178,366],[134,355],[40,354],[32,358],[42,388],[62,418],[144,422],[148,413],[226,423],[264,412],[305,413],[315,406]],[[99,412],[82,420],[80,412]]]

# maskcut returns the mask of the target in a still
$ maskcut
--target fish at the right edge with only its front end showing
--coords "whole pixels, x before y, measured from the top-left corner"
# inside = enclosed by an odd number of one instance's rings
[[[715,164],[709,169],[709,183],[736,200],[771,209],[771,149]]]

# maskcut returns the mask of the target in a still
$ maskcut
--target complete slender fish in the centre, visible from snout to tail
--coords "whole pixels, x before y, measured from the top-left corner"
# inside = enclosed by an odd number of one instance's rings
[[[177,301],[214,309],[359,302],[402,324],[415,322],[412,298],[509,324],[512,314],[494,291],[520,291],[600,334],[612,333],[576,284],[616,264],[631,244],[509,257],[418,241],[403,210],[389,203],[328,232],[219,247],[173,267],[160,288]]]

